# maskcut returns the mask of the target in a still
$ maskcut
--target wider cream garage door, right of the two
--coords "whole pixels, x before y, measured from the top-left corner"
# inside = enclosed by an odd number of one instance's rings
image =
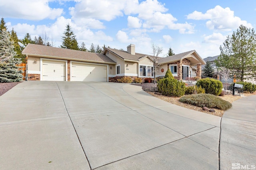
[[[72,63],[72,81],[106,82],[107,66]]]

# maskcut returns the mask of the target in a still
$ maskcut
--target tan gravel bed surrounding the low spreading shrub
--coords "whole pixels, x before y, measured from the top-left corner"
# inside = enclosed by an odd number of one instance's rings
[[[204,113],[207,113],[207,114],[212,114],[212,115],[216,115],[216,116],[219,116],[219,117],[222,117],[224,111],[223,110],[220,110],[220,109],[214,109],[215,112],[209,112],[209,111],[205,111],[202,109],[202,107],[197,107],[197,106],[194,106],[194,105],[190,105],[190,104],[184,104],[182,102],[179,102],[179,99],[180,98],[175,98],[175,97],[168,97],[168,96],[163,96],[159,93],[154,93],[154,92],[148,92],[149,94],[151,94],[152,96],[155,96],[156,98],[160,98],[161,100],[164,100],[166,102],[169,102],[171,104],[175,104],[175,105],[178,105],[178,106],[181,106],[181,107],[185,107],[185,108],[188,108],[188,109],[192,109],[192,110],[196,110],[196,111],[201,111],[201,112],[204,112]],[[252,95],[255,95],[256,93],[253,93],[253,94],[244,94],[244,96],[252,96]],[[224,96],[218,96],[219,98],[223,99],[223,100],[226,100],[230,103],[242,98],[240,96],[233,96],[233,95],[224,95]]]

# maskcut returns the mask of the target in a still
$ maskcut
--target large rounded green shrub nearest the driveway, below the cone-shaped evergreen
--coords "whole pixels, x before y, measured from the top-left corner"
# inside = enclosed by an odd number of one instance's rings
[[[175,78],[162,78],[158,81],[157,86],[158,91],[165,96],[180,97],[186,91],[185,83]]]

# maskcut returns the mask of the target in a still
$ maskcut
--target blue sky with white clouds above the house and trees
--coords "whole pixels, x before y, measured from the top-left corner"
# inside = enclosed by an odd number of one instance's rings
[[[174,53],[195,49],[202,58],[220,54],[228,35],[243,24],[256,27],[255,0],[6,0],[0,17],[22,39],[48,35],[55,47],[69,23],[79,45],[152,54],[152,42]]]

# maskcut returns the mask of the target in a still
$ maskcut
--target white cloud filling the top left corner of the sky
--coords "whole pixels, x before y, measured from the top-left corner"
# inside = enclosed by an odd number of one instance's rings
[[[55,19],[63,13],[61,8],[50,8],[50,0],[2,0],[1,15],[26,20]]]

